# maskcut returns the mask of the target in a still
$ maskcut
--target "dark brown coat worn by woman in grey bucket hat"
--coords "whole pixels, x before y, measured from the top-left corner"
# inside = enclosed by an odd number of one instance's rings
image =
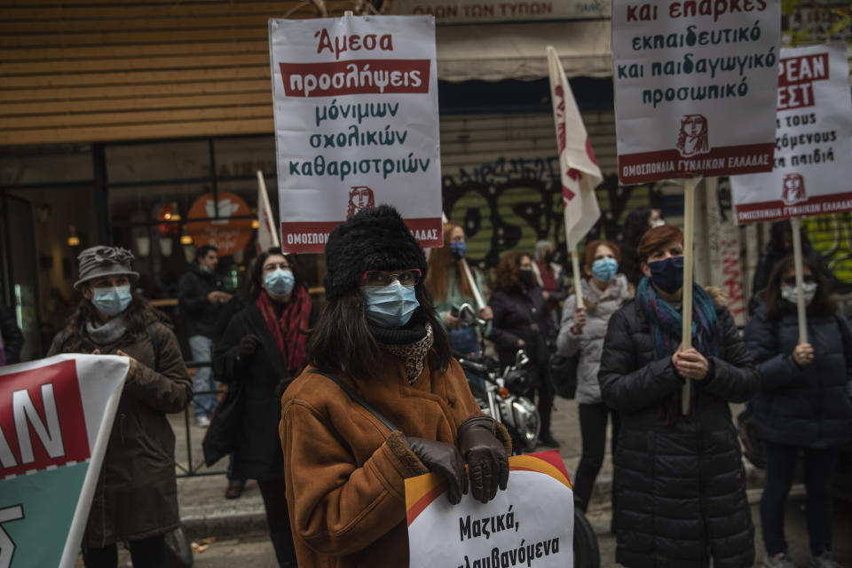
[[[151,332],[154,332],[152,338]],[[69,352],[68,337],[54,338],[48,355]],[[159,366],[154,370],[154,346]],[[78,352],[91,352],[87,338]],[[104,354],[122,350],[138,361],[135,375],[124,383],[106,446],[83,546],[103,547],[123,540],[146,539],[177,527],[175,434],[167,413],[182,411],[193,398],[175,335],[162,323],[151,324],[137,335],[125,334]]]

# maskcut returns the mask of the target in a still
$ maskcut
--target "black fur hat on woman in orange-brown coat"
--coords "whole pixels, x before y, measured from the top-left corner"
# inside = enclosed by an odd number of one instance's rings
[[[328,235],[326,299],[331,302],[358,288],[368,270],[419,268],[426,277],[426,255],[397,209],[363,209]]]

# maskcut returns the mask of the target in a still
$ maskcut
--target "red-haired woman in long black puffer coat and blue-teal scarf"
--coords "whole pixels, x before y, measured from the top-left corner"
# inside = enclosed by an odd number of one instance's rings
[[[754,528],[729,402],[757,372],[727,308],[692,284],[693,345],[681,349],[683,233],[651,229],[637,253],[635,301],[611,319],[598,380],[620,413],[616,561],[625,566],[751,566]],[[683,382],[694,381],[682,415]]]

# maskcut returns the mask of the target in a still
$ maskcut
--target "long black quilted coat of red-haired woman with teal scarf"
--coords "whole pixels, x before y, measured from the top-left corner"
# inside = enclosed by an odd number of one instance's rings
[[[610,319],[598,380],[620,413],[615,454],[615,560],[631,568],[745,568],[754,562],[737,430],[729,402],[745,402],[758,375],[727,308],[714,304],[718,356],[692,383],[693,410],[680,414],[681,375],[659,359],[648,317],[636,301]],[[675,397],[676,415],[667,423]]]

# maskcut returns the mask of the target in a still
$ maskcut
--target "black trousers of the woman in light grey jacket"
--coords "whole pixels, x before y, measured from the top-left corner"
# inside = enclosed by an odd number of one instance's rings
[[[612,417],[612,456],[615,456],[616,440],[619,438],[619,413],[604,405],[580,404],[580,436],[582,437],[583,450],[580,456],[580,464],[577,466],[577,475],[574,476],[574,503],[578,509],[585,512],[588,501],[592,497],[595,488],[595,479],[604,465],[604,452],[606,451],[606,422],[607,417]],[[612,509],[615,510],[615,491],[612,491]]]

